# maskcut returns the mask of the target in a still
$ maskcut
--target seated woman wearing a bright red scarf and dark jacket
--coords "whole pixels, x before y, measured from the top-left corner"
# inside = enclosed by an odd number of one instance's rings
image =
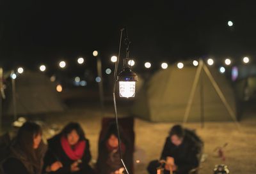
[[[70,122],[60,134],[48,140],[48,150],[44,159],[46,173],[93,173],[89,140],[77,122]],[[54,165],[52,165],[54,164]]]

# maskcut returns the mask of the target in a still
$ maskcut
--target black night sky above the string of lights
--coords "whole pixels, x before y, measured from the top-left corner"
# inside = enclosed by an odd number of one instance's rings
[[[138,67],[145,61],[159,66],[194,57],[256,56],[256,12],[247,1],[84,2],[1,0],[0,64],[56,68],[61,59],[76,64],[82,56],[90,65],[93,50],[110,64],[122,27]]]

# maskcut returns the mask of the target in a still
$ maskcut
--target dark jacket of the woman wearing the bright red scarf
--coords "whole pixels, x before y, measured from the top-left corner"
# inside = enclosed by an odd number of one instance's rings
[[[91,152],[90,152],[90,143],[89,140],[84,138],[86,141],[86,148],[84,150],[84,154],[82,157],[82,163],[79,164],[79,168],[81,170],[75,172],[75,173],[91,173],[92,168],[89,166],[89,162],[92,159]],[[51,166],[52,163],[60,161],[63,165],[62,168],[60,168],[57,171],[52,171],[51,173],[54,174],[68,174],[71,173],[70,166],[75,161],[70,159],[67,154],[65,154],[65,151],[61,147],[61,134],[57,134],[53,138],[48,140],[48,150],[45,154],[44,158],[44,169],[47,168],[47,166]],[[87,171],[90,170],[90,171]]]

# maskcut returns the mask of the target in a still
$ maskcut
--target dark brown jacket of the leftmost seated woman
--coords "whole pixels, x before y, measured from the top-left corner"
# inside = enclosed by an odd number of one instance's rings
[[[46,145],[41,142],[35,150],[37,160],[32,162],[14,142],[10,147],[10,156],[2,164],[4,174],[41,174],[46,149]]]

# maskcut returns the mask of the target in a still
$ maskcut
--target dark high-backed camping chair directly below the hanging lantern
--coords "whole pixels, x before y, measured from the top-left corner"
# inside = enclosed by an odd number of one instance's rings
[[[108,131],[108,127],[110,124],[113,124],[115,122],[115,118],[113,117],[104,117],[102,119],[102,126],[98,141],[98,146],[100,145],[100,141],[103,140],[103,138],[106,136],[106,133]],[[133,166],[133,152],[134,152],[134,118],[133,117],[124,117],[118,119],[118,124],[120,128],[122,129],[122,136],[125,137],[125,140],[127,141],[129,145],[129,149],[131,149],[131,153],[129,153],[129,163],[132,164],[131,169],[129,171],[130,174],[134,171]]]

